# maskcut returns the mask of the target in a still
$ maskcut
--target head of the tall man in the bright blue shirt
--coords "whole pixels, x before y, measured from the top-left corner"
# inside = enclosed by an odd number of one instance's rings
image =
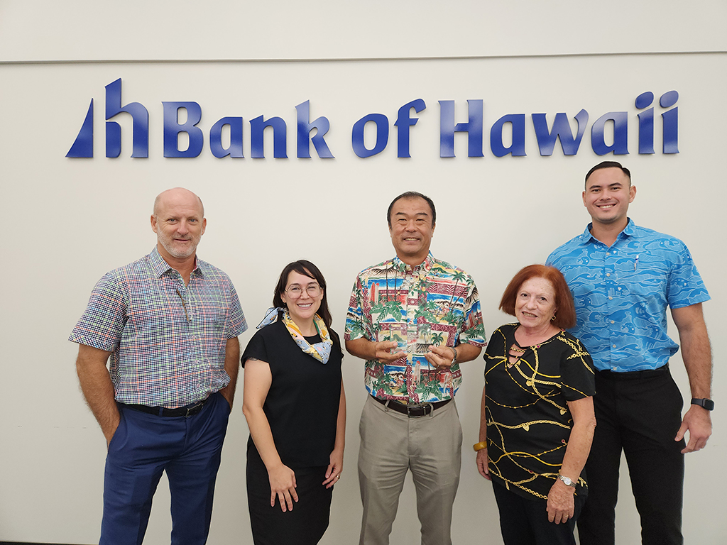
[[[586,180],[583,204],[593,223],[626,227],[629,203],[636,196],[636,187],[622,169],[599,169]]]

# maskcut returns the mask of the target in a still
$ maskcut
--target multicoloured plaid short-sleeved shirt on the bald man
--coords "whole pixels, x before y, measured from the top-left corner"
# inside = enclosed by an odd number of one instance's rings
[[[117,401],[174,408],[230,383],[227,342],[246,328],[228,275],[196,259],[185,286],[155,247],[98,281],[69,340],[112,352]]]

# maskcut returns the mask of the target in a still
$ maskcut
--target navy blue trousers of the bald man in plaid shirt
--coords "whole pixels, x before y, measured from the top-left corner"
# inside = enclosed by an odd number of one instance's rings
[[[230,415],[227,400],[213,394],[188,418],[156,416],[122,404],[119,413],[119,428],[106,456],[100,545],[142,543],[165,471],[172,498],[172,545],[204,544]]]

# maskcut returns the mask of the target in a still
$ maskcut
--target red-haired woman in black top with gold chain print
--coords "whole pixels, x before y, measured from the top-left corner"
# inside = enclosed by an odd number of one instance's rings
[[[574,545],[595,385],[590,355],[564,331],[576,323],[571,292],[554,267],[529,265],[499,307],[519,323],[487,345],[477,466],[492,481],[505,545]]]

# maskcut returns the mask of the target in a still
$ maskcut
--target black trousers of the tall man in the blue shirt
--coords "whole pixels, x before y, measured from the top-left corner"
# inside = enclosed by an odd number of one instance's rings
[[[684,440],[675,441],[683,400],[668,366],[596,371],[596,429],[586,464],[581,545],[614,545],[619,463],[624,452],[644,545],[681,545]],[[631,541],[632,543],[634,541]]]

